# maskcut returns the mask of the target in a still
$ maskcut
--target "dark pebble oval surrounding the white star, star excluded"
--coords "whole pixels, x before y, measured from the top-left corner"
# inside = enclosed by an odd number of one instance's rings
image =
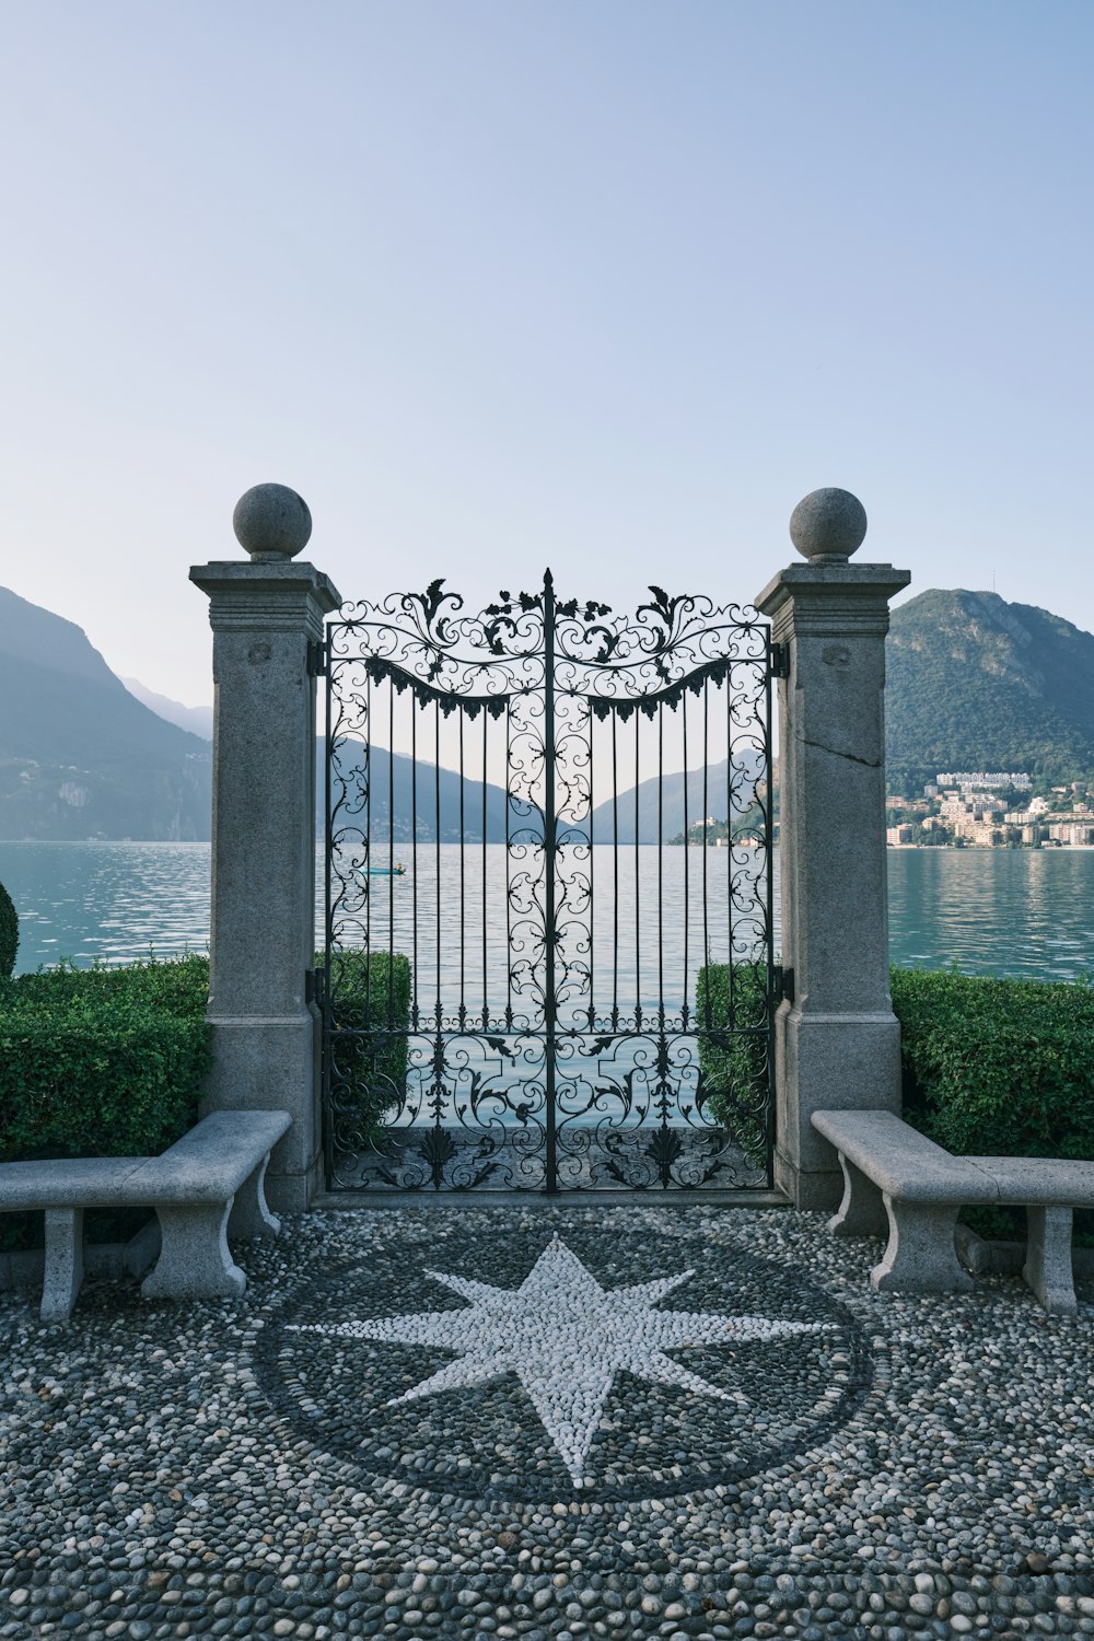
[[[743,1393],[748,1405],[617,1374],[587,1482],[576,1490],[515,1374],[390,1406],[453,1354],[290,1331],[289,1324],[458,1310],[464,1301],[428,1270],[518,1288],[551,1241],[548,1229],[500,1236],[438,1223],[428,1242],[385,1239],[367,1264],[331,1265],[300,1285],[266,1318],[259,1383],[295,1431],[362,1480],[484,1503],[635,1502],[738,1483],[827,1442],[866,1396],[873,1357],[855,1316],[795,1268],[712,1241],[620,1237],[576,1224],[561,1236],[607,1290],[692,1268],[661,1310],[827,1323],[830,1331],[676,1352],[694,1374]]]

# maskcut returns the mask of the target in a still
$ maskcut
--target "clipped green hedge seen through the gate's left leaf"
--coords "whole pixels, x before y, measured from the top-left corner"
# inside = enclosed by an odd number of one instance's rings
[[[410,960],[399,952],[335,952],[328,986],[335,1142],[354,1150],[376,1140],[405,1091]]]

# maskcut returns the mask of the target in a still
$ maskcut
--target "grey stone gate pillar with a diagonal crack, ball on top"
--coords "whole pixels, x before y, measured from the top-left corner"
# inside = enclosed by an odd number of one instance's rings
[[[814,491],[791,538],[809,560],[756,599],[786,645],[779,681],[782,965],[776,1014],[776,1185],[836,1208],[843,1182],[818,1109],[900,1111],[900,1027],[889,996],[884,681],[889,601],[912,579],[850,565],[866,512]]]

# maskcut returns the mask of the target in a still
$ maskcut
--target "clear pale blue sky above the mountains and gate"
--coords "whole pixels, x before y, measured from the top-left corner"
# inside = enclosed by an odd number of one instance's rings
[[[344,596],[859,558],[1094,629],[1091,0],[0,0],[0,584],[210,699],[261,479]]]

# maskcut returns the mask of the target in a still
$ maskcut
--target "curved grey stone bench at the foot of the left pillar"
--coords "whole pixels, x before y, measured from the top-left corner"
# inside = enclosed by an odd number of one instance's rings
[[[67,1321],[84,1282],[84,1209],[154,1208],[161,1247],[144,1298],[236,1296],[246,1277],[228,1237],[277,1236],[266,1204],[269,1154],[287,1111],[213,1111],[159,1157],[0,1163],[0,1213],[44,1209],[43,1321]]]

